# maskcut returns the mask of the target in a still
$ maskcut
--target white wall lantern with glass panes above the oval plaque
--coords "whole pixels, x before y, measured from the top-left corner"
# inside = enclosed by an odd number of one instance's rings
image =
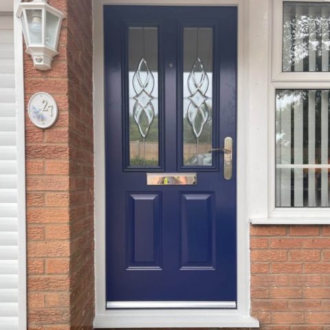
[[[58,38],[64,15],[49,5],[47,0],[33,0],[19,4],[17,17],[21,19],[26,52],[32,56],[34,67],[51,69],[53,57],[58,54]]]

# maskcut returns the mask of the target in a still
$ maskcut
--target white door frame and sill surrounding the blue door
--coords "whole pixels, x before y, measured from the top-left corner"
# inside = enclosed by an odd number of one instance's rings
[[[259,327],[250,316],[248,221],[249,0],[94,0],[94,159],[96,328]],[[237,97],[237,309],[106,309],[103,5],[235,5],[238,7]]]

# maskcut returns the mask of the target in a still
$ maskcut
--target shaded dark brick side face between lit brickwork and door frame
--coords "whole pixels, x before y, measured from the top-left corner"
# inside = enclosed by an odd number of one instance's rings
[[[94,319],[94,134],[91,0],[67,0],[69,78],[70,314]],[[83,328],[84,326],[84,328]]]

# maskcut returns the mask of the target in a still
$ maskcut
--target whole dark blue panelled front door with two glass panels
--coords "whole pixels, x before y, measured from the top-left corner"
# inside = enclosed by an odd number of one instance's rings
[[[104,6],[107,308],[236,308],[235,7]]]

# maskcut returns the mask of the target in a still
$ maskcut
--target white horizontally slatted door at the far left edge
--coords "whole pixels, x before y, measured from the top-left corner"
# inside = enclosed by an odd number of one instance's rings
[[[13,19],[0,14],[0,330],[19,329],[15,105]]]

